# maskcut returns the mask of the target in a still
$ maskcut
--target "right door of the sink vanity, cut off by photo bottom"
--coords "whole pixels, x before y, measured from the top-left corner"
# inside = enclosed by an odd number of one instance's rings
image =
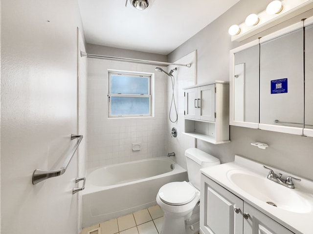
[[[244,234],[293,234],[267,215],[244,203]]]

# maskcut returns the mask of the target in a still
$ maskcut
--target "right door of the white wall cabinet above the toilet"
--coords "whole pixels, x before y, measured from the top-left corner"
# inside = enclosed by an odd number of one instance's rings
[[[215,121],[215,84],[199,87],[200,119]],[[200,103],[200,105],[199,105]]]

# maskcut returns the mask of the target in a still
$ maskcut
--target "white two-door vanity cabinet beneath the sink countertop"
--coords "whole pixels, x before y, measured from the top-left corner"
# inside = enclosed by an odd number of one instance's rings
[[[201,234],[294,234],[201,174]]]

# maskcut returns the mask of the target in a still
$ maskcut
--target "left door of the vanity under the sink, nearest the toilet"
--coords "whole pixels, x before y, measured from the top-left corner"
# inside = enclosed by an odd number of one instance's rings
[[[238,209],[238,214],[235,212]],[[204,234],[243,234],[244,202],[201,174],[200,228]]]

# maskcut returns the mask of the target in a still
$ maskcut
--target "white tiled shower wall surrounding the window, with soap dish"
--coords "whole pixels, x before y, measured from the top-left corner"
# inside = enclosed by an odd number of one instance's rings
[[[88,168],[167,155],[167,77],[155,68],[88,59]],[[108,119],[108,69],[155,74],[154,117]],[[133,151],[132,143],[141,143],[141,150]]]

